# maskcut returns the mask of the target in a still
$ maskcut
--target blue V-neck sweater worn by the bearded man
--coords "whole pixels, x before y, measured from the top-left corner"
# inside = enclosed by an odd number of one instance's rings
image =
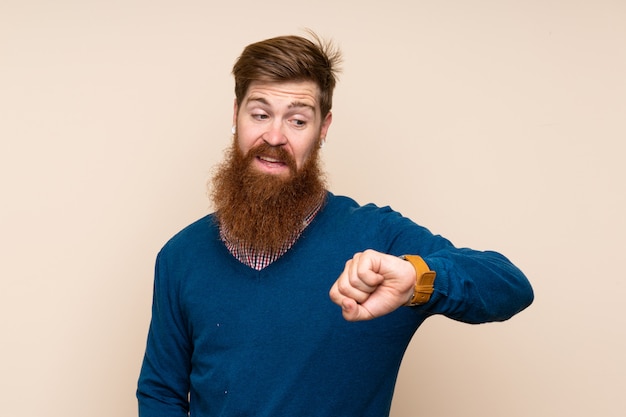
[[[421,255],[437,272],[422,306],[347,322],[328,291],[355,252]],[[454,247],[388,207],[328,194],[292,249],[256,271],[209,215],[157,257],[137,397],[141,417],[381,417],[415,330],[430,315],[501,321],[531,286],[495,252]]]

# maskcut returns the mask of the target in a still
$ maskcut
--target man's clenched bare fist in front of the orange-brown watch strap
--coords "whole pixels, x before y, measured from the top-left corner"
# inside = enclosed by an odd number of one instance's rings
[[[415,268],[397,256],[371,249],[352,257],[330,289],[348,321],[371,320],[405,305],[415,286]]]

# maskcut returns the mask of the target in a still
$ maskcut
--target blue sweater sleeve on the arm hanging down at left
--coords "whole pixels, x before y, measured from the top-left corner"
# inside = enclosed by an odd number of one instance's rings
[[[189,411],[191,343],[181,314],[179,290],[159,254],[152,320],[137,386],[140,417],[186,417]]]

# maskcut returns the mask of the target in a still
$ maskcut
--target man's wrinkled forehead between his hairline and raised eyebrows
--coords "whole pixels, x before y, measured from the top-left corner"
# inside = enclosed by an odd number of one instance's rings
[[[262,82],[250,84],[243,105],[310,107],[320,109],[320,90],[313,81]]]

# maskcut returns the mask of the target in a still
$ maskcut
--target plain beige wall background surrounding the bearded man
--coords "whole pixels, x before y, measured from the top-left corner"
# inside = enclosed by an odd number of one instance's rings
[[[136,414],[154,257],[209,210],[231,65],[304,27],[345,54],[331,189],[536,290],[504,324],[428,321],[392,415],[626,415],[626,2],[1,0],[0,416]]]

